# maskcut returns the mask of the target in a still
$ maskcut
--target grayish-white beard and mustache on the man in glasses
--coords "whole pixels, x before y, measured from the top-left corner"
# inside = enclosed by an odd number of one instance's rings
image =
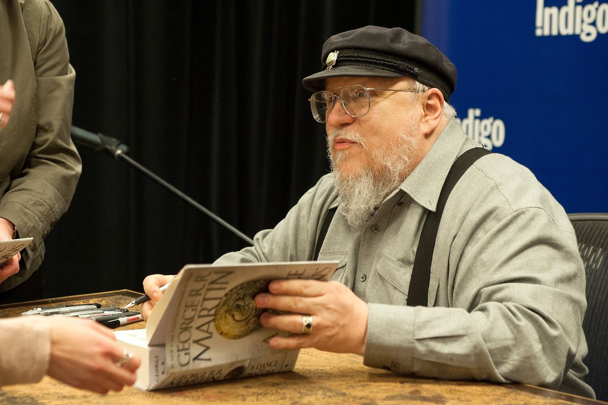
[[[340,196],[340,213],[346,217],[351,226],[361,227],[370,220],[382,201],[401,185],[409,175],[412,155],[416,151],[417,141],[413,134],[412,124],[395,136],[391,146],[371,152],[375,167],[364,166],[353,174],[341,174],[338,163],[348,159],[348,151],[337,152],[334,161],[331,145],[337,137],[344,137],[359,143],[365,150],[365,141],[358,133],[335,130],[328,137],[328,157],[331,171],[334,173],[334,185]]]

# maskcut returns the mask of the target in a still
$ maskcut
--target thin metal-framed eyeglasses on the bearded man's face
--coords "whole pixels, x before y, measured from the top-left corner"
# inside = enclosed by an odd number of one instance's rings
[[[338,90],[339,93],[336,94]],[[336,87],[336,89],[313,93],[308,101],[310,101],[310,109],[317,122],[324,123],[327,121],[327,117],[330,116],[331,111],[336,105],[336,97],[339,98],[344,111],[351,117],[356,118],[362,117],[370,111],[370,91],[416,93],[416,90],[374,89],[373,87],[365,87],[362,84],[351,84],[350,86]]]

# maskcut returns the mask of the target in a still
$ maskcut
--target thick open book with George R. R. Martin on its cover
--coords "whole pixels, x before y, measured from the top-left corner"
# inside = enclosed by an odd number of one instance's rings
[[[114,332],[142,364],[135,386],[157,390],[291,371],[299,350],[274,350],[253,302],[276,279],[328,281],[337,262],[186,265],[150,313],[145,329]]]

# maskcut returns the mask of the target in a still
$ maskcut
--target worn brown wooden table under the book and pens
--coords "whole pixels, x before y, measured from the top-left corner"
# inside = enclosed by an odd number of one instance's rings
[[[129,290],[0,305],[0,317],[53,304],[100,302],[122,306],[139,293]],[[143,322],[123,328],[144,327]],[[173,404],[606,404],[522,384],[414,378],[365,367],[361,356],[304,349],[293,372],[143,392],[126,387],[98,395],[50,378],[37,384],[0,388],[6,405],[173,405]]]

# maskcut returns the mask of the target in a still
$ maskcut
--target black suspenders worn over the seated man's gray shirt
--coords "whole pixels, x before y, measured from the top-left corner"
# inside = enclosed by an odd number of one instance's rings
[[[441,215],[443,214],[443,208],[446,206],[447,197],[449,197],[452,189],[460,180],[463,174],[475,161],[491,153],[487,149],[473,148],[461,154],[452,164],[452,168],[447,173],[439,199],[437,201],[437,210],[435,212],[429,211],[424,220],[422,233],[420,234],[420,240],[418,241],[418,248],[416,249],[416,257],[414,259],[414,267],[412,269],[412,278],[410,279],[410,287],[407,292],[407,305],[413,307],[416,305],[427,306],[428,294],[429,294],[429,281],[430,281],[430,265],[433,260],[433,251],[435,250],[435,239],[437,238],[437,230],[439,223],[441,222]],[[331,220],[336,213],[336,208],[329,209],[323,221],[319,237],[317,238],[317,245],[315,247],[314,260],[319,257],[319,251],[325,235],[330,227]]]

